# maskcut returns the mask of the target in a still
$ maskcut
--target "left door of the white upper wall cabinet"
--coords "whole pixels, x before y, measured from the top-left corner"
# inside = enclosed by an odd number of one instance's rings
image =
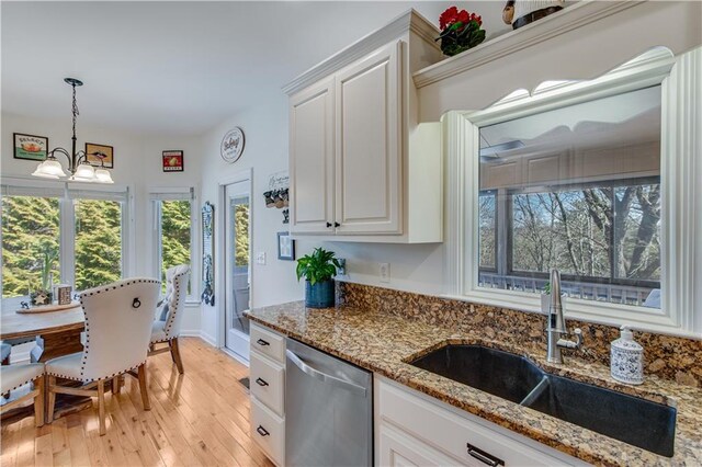
[[[333,79],[291,98],[290,230],[333,234]]]

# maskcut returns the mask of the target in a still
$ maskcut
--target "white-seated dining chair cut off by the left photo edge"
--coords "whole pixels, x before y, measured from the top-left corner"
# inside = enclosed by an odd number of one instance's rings
[[[27,400],[34,399],[34,424],[42,426],[44,425],[44,364],[27,363],[0,366],[0,391],[2,394],[10,394],[10,391],[30,383],[34,383],[34,388],[27,394],[5,402],[0,409],[0,413],[5,413]]]

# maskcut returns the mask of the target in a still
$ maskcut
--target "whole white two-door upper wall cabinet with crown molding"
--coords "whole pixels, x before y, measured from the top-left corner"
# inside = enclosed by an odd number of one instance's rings
[[[440,127],[417,125],[410,79],[441,59],[437,35],[409,11],[286,87],[292,234],[442,240]]]

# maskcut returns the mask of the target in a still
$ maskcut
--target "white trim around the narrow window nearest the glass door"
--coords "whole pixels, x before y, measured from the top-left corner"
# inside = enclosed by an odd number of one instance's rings
[[[190,294],[185,297],[186,305],[200,304],[200,281],[196,271],[199,255],[197,228],[199,204],[194,186],[155,186],[149,189],[149,205],[151,212],[151,269],[155,277],[161,277],[161,218],[160,204],[156,201],[189,200],[190,205]]]

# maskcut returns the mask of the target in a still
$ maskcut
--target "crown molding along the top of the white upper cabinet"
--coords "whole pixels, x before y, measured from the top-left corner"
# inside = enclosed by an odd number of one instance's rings
[[[439,36],[439,29],[416,10],[410,9],[395,18],[385,26],[367,34],[326,60],[309,68],[285,84],[283,92],[292,95],[307,88],[309,84],[319,81],[321,78],[326,78],[341,68],[351,65],[377,48],[387,45],[392,41],[401,37],[408,31],[414,32],[423,41],[439,48],[439,45],[434,42],[434,38]]]

